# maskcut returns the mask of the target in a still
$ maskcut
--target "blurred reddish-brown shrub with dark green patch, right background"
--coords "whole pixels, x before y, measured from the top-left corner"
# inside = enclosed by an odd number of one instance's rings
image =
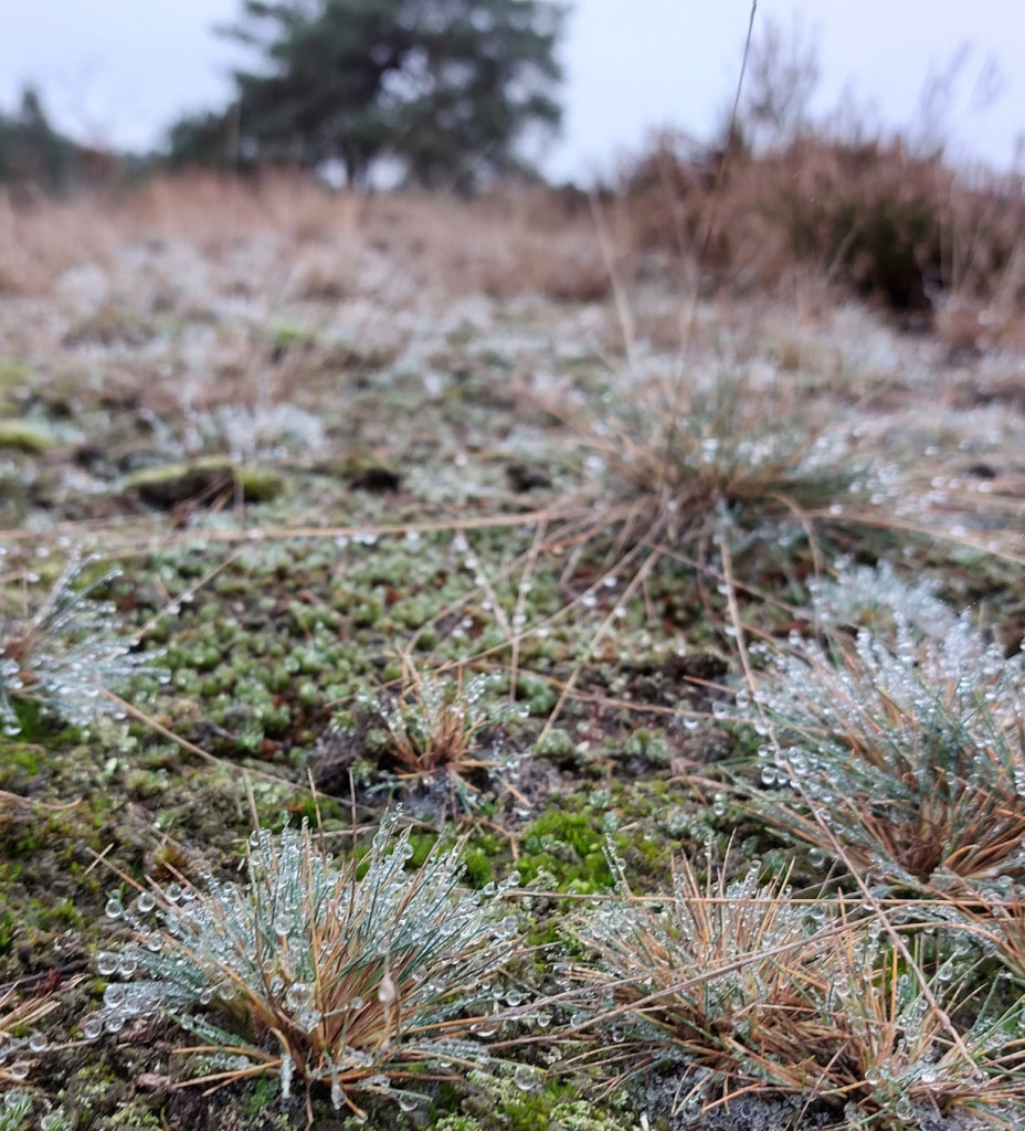
[[[951,346],[1014,339],[1025,299],[1018,174],[957,169],[901,139],[816,135],[760,155],[739,148],[723,165],[721,150],[666,132],[623,185],[635,256],[689,261],[696,283],[773,290],[815,269],[928,316]]]

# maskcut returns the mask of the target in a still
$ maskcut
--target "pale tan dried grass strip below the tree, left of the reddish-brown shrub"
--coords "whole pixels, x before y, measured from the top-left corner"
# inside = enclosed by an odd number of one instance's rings
[[[541,187],[510,185],[472,201],[359,198],[300,174],[189,173],[67,201],[19,206],[0,197],[0,294],[45,294],[75,264],[109,266],[123,244],[182,241],[216,259],[261,235],[273,236],[295,268],[293,290],[310,300],[350,295],[360,254],[386,256],[414,286],[455,294],[588,302],[610,288],[589,214]]]

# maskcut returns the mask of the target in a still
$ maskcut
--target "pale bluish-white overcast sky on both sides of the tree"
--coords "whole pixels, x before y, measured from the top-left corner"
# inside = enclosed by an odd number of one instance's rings
[[[213,28],[239,0],[0,0],[0,106],[35,83],[59,127],[98,144],[147,147],[184,111],[218,107],[238,49]],[[707,136],[737,81],[750,0],[576,0],[562,60],[561,140],[546,171],[608,172],[651,130]],[[1023,0],[760,0],[759,24],[800,19],[819,45],[819,109],[846,88],[877,121],[910,126],[930,71],[971,54],[948,114],[961,155],[1006,165],[1025,130]],[[988,62],[1002,94],[973,109]],[[977,101],[977,100],[976,100]]]

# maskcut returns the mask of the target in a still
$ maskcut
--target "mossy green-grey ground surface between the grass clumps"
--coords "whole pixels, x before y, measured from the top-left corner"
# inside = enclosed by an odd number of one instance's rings
[[[641,893],[667,891],[674,855],[722,857],[731,840],[740,874],[792,860],[795,889],[815,881],[808,847],[734,792],[757,782],[748,732],[718,717],[740,687],[738,615],[785,642],[806,623],[808,579],[846,556],[931,579],[1010,650],[1020,637],[1018,357],[951,357],[807,295],[683,303],[679,345],[679,295],[652,283],[628,295],[638,331],[625,342],[611,297],[467,295],[429,274],[359,233],[303,242],[257,226],[212,243],[154,230],[42,293],[0,295],[8,636],[78,553],[72,586],[121,570],[94,596],[152,668],[87,726],[16,693],[21,732],[0,740],[0,993],[54,1004],[49,1051],[21,1057],[36,1123],[48,1107],[97,1129],[307,1117],[273,1085],[173,1090],[169,1021],[81,1039],[104,990],[96,952],[119,930],[104,917],[123,884],[111,867],[162,883],[232,875],[252,806],[272,830],[319,818],[343,844],[353,818],[372,829],[402,801],[414,864],[458,828],[467,882],[518,870],[541,892],[517,910],[551,948],[532,962],[537,992],[554,992],[561,926],[611,891],[606,844]],[[652,388],[690,397],[738,375],[738,396],[759,403],[786,390],[824,447],[871,454],[863,521],[843,525],[843,494],[810,519],[773,506],[737,520],[726,559],[721,516],[682,530],[651,519],[662,503],[619,475],[603,422],[654,414],[627,433],[651,443],[666,411]],[[34,646],[61,631],[43,625]],[[432,679],[456,694],[475,674],[489,682],[467,761],[484,765],[411,774],[371,701],[386,710],[405,689],[415,702]],[[523,1055],[543,1064],[551,1047]],[[447,1086],[430,1111],[384,1105],[371,1122],[683,1126],[679,1079],[661,1071],[618,1103],[552,1065],[541,1089]],[[326,1094],[313,1103],[315,1125],[342,1125]],[[842,1112],[756,1096],[695,1125],[845,1125]],[[971,1125],[914,1119],[899,1125]]]

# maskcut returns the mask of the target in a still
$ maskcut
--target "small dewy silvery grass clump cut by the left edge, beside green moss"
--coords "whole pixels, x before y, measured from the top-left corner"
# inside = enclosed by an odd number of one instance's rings
[[[36,702],[54,717],[87,727],[97,715],[117,713],[104,690],[147,670],[166,679],[152,667],[152,653],[132,650],[113,602],[96,597],[120,570],[78,585],[94,562],[72,556],[34,612],[0,622],[0,725],[6,734],[21,729],[16,700]]]

